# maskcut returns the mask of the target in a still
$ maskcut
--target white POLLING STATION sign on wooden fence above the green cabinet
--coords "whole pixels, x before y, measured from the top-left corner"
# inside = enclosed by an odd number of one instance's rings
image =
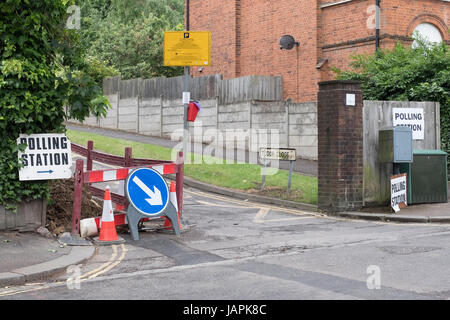
[[[392,123],[394,127],[410,127],[413,140],[424,139],[425,120],[422,108],[392,108]]]

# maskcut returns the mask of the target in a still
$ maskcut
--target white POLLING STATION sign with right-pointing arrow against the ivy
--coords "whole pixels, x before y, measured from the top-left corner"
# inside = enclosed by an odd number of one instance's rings
[[[24,152],[18,152],[24,164],[19,170],[20,181],[67,179],[72,176],[72,150],[64,134],[21,134],[17,144],[27,145]]]

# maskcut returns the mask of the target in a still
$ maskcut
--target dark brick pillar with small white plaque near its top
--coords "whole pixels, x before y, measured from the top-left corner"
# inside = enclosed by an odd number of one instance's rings
[[[339,212],[362,207],[362,107],[359,82],[319,82],[319,210]]]

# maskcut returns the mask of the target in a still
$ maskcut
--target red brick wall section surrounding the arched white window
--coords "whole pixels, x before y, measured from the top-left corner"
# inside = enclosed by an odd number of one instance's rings
[[[329,2],[329,0],[325,0]],[[375,1],[352,1],[322,9],[324,21],[323,55],[328,59],[322,79],[332,79],[330,67],[348,68],[350,56],[375,51]],[[450,40],[450,3],[442,0],[381,0],[380,46],[392,49],[400,41],[407,46],[415,27],[429,22]],[[372,38],[370,38],[372,36]],[[360,41],[355,41],[355,40]],[[353,43],[352,43],[353,41]],[[347,45],[346,42],[348,43]]]

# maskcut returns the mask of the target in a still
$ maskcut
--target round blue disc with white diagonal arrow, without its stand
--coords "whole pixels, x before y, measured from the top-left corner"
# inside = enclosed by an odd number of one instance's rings
[[[139,168],[128,175],[125,191],[133,207],[145,215],[160,214],[169,203],[166,181],[150,168]]]

